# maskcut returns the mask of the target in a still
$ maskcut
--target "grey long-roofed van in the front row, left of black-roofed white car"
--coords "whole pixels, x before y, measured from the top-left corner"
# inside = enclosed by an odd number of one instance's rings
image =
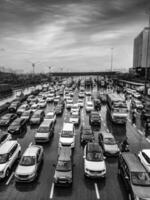
[[[56,186],[70,186],[73,182],[73,163],[71,147],[60,147],[55,168]]]

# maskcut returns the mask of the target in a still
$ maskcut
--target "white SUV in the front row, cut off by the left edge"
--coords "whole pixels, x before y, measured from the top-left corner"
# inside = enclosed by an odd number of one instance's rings
[[[8,178],[14,163],[20,159],[21,146],[16,140],[8,140],[0,146],[0,179]]]

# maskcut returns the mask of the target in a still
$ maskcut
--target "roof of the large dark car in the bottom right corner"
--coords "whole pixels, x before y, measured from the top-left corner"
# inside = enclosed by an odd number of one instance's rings
[[[131,152],[122,153],[122,157],[126,161],[131,172],[136,172],[136,171],[143,172],[143,171],[145,171],[145,168],[140,163],[138,157],[135,154],[133,154]]]

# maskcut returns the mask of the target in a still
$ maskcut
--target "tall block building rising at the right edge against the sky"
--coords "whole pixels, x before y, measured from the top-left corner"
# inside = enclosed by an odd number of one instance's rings
[[[133,68],[150,68],[150,28],[146,27],[134,39]]]

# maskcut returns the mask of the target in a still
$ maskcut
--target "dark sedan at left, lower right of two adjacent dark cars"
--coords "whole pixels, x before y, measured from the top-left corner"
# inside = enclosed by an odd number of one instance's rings
[[[8,127],[8,132],[11,134],[22,133],[26,130],[26,120],[22,118],[17,118],[13,123]]]

